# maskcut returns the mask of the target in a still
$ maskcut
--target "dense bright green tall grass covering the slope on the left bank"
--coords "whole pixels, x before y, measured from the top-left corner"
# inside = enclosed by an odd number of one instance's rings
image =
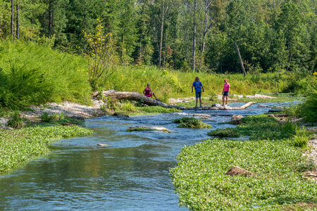
[[[23,108],[48,101],[89,103],[84,58],[32,42],[0,42],[0,106]]]

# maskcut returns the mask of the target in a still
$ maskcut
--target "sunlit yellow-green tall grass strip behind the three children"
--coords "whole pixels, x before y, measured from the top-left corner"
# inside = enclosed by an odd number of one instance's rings
[[[276,74],[266,73],[257,75],[242,74],[211,74],[204,72],[180,72],[176,70],[160,70],[154,66],[144,67],[119,67],[111,76],[104,79],[101,87],[104,89],[116,89],[118,91],[137,91],[142,93],[147,83],[160,98],[165,101],[167,98],[193,96],[192,82],[198,76],[204,85],[203,96],[209,97],[214,94],[221,94],[223,80],[229,79],[231,94],[255,94],[256,92],[281,92],[289,90],[290,83],[293,83],[289,73]],[[291,91],[304,93],[316,82],[316,76],[304,77],[299,82],[311,84],[309,87],[297,86]],[[300,90],[299,90],[300,89]]]

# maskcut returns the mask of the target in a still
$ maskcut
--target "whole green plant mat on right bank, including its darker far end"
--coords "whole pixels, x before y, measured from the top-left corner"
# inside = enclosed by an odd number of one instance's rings
[[[209,139],[185,146],[170,170],[180,203],[193,210],[316,209],[315,141],[303,127],[278,120],[248,116],[236,128],[210,133],[249,136],[248,141]],[[226,175],[231,167],[252,175]]]

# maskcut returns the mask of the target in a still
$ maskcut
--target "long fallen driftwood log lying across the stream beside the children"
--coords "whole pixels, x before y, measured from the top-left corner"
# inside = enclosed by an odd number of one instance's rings
[[[138,92],[131,91],[116,91],[114,89],[108,91],[102,91],[102,96],[116,98],[118,100],[128,100],[128,101],[142,101],[142,103],[148,106],[161,106],[164,108],[178,108],[180,110],[241,110],[252,106],[255,102],[249,102],[244,104],[244,106],[238,108],[232,108],[230,106],[204,106],[202,108],[187,108],[183,106],[173,106],[161,101],[156,101],[152,98],[139,94]]]

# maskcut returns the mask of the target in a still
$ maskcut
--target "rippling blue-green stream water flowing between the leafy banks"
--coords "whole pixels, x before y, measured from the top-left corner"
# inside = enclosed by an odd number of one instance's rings
[[[183,146],[210,138],[206,134],[211,129],[178,128],[172,120],[209,114],[212,120],[204,122],[217,129],[235,127],[218,124],[230,121],[232,115],[268,110],[255,104],[246,110],[190,110],[86,120],[85,127],[94,130],[92,136],[56,141],[49,155],[0,176],[0,210],[187,210],[178,205],[169,168],[176,165],[175,157]],[[126,132],[128,127],[142,125],[166,127],[171,132]],[[109,146],[99,148],[97,143]]]

